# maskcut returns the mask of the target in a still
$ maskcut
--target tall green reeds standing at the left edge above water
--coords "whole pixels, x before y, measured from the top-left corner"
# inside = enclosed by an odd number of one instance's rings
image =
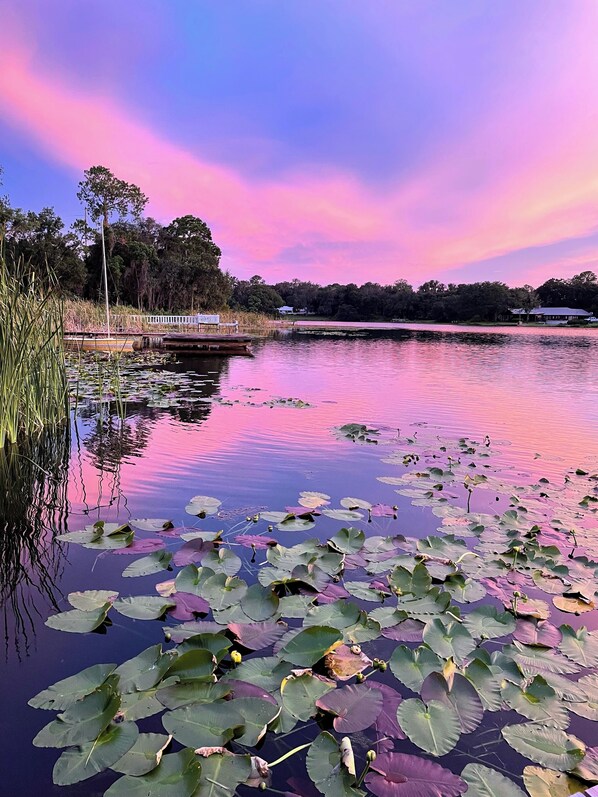
[[[51,287],[0,253],[0,448],[68,417],[62,333]]]

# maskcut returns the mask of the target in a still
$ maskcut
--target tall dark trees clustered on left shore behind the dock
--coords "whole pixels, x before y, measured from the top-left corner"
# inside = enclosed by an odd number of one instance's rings
[[[53,208],[23,211],[0,197],[7,260],[24,258],[40,278],[53,274],[64,294],[98,300],[103,230],[112,303],[166,312],[227,306],[234,282],[220,268],[221,251],[202,219],[186,215],[164,225],[144,216],[145,194],[105,166],[84,172],[77,196],[84,217],[69,229]]]

